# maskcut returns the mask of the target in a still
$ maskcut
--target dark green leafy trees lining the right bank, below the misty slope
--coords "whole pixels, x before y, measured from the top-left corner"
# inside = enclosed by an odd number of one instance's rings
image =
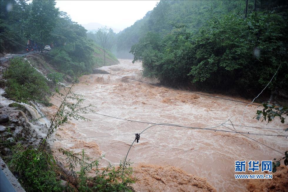
[[[163,38],[148,32],[130,52],[133,62],[142,61],[143,75],[164,84],[191,81],[201,89],[233,89],[243,96],[262,90],[281,64],[266,92],[288,91],[287,19],[270,13],[246,19],[229,14],[212,19],[197,34],[176,24]]]

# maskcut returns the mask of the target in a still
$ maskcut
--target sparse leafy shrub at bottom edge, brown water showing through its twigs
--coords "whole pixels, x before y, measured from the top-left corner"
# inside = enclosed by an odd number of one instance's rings
[[[75,188],[79,191],[134,191],[132,187],[128,186],[135,183],[135,179],[132,177],[133,170],[130,167],[131,163],[129,161],[125,163],[125,166],[120,162],[117,168],[109,164],[107,167],[99,169],[99,160],[104,155],[91,161],[92,158],[88,157],[84,153],[84,150],[82,150],[82,153],[73,153],[62,148],[58,150],[66,156],[65,161],[68,163],[69,170],[76,180]],[[77,165],[80,165],[80,171],[76,172],[74,169]],[[88,173],[92,169],[95,170],[96,176],[88,176]]]

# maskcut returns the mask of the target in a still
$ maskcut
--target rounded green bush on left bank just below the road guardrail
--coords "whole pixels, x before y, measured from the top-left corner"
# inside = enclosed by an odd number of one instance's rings
[[[48,81],[23,58],[14,58],[4,74],[7,80],[6,93],[18,102],[27,100],[47,101],[50,93]]]

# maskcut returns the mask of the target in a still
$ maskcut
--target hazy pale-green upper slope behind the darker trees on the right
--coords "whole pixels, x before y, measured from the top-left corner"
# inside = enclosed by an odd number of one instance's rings
[[[135,22],[131,27],[117,34],[118,54],[127,55],[132,45],[138,43],[147,32],[157,32],[160,36],[171,32],[178,23],[186,29],[197,32],[207,21],[222,17],[227,13],[245,14],[245,1],[160,1],[157,6]],[[254,1],[249,1],[249,12]]]

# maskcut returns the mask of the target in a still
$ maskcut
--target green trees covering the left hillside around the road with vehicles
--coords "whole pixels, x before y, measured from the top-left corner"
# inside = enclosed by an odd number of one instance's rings
[[[47,59],[67,75],[91,72],[88,68],[102,66],[99,46],[87,37],[87,30],[55,5],[55,1],[1,0],[1,54],[25,50],[22,45],[26,46],[31,39],[42,49],[45,45],[53,46],[48,55],[56,59]],[[111,56],[107,64],[116,63],[117,59]]]

